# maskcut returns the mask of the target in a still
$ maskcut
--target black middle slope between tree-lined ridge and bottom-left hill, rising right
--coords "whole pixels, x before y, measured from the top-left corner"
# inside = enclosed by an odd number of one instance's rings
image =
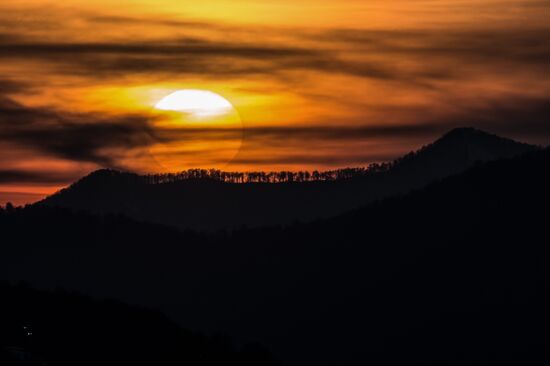
[[[0,275],[155,306],[287,365],[548,364],[550,150],[337,218],[205,238],[122,217],[0,215]]]

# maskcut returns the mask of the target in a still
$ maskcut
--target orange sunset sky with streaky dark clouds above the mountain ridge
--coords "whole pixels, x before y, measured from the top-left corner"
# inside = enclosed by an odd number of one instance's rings
[[[0,204],[99,168],[365,166],[454,127],[546,145],[548,19],[548,0],[3,1]],[[155,108],[184,89],[231,118]]]

